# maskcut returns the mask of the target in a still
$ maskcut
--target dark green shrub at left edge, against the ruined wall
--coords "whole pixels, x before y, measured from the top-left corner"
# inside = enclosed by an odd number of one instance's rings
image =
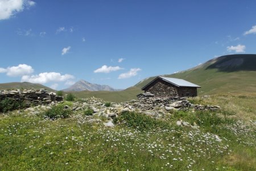
[[[5,98],[0,102],[0,112],[7,112],[16,109],[24,109],[26,107],[24,102],[15,101],[15,99]]]

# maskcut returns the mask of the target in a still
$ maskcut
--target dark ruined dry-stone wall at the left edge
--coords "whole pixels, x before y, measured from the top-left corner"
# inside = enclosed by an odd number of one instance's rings
[[[0,101],[5,98],[15,99],[15,101],[20,101],[26,103],[26,106],[30,105],[42,105],[51,102],[63,101],[63,97],[57,96],[56,93],[48,93],[47,90],[0,90]]]

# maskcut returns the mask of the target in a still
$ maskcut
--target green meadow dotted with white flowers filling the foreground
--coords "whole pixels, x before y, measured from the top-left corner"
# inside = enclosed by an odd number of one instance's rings
[[[225,114],[124,112],[115,127],[80,112],[0,114],[0,170],[256,170],[255,121]],[[181,119],[199,127],[177,126]]]

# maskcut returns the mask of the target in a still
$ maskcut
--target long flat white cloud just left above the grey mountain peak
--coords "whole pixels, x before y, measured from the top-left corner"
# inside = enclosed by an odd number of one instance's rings
[[[60,73],[56,72],[45,72],[40,73],[38,75],[33,76],[22,76],[21,82],[32,82],[32,83],[39,83],[39,84],[45,84],[47,82],[60,82],[60,81],[67,81],[70,79],[75,78],[74,76],[70,74],[61,75]]]

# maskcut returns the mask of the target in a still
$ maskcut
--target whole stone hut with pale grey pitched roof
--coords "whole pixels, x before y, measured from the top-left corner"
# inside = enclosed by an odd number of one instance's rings
[[[182,79],[156,77],[142,88],[144,93],[137,95],[137,97],[195,97],[197,96],[197,88],[200,86]]]

